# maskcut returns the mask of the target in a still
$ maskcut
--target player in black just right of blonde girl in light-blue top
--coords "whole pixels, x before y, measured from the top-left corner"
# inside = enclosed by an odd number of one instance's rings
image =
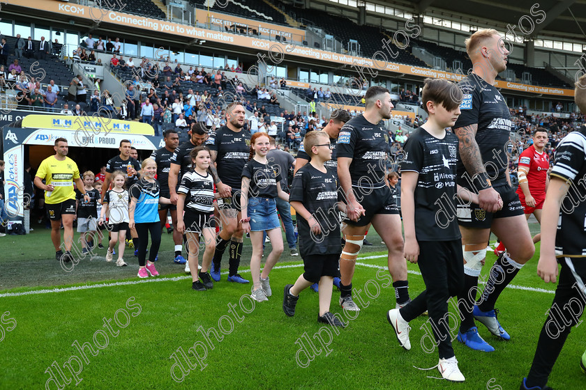
[[[163,133],[163,140],[165,146],[163,148],[154,150],[151,154],[151,159],[157,163],[157,181],[160,185],[160,196],[171,198],[169,189],[169,176],[171,169],[171,158],[179,146],[179,134],[174,129],[166,130]],[[175,187],[174,187],[175,188]],[[175,244],[175,263],[186,263],[186,259],[181,256],[182,237],[181,233],[177,231],[177,206],[174,204],[159,203],[159,218],[160,226],[163,228],[167,223],[167,212],[171,213],[171,221],[173,224],[173,242]]]

